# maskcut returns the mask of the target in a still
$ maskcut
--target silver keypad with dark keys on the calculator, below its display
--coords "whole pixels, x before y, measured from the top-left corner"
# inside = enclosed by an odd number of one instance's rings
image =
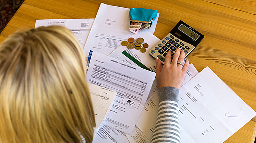
[[[175,51],[181,48],[184,50],[185,57],[195,48],[193,45],[176,38],[172,34],[168,33],[153,49],[150,50],[149,54],[153,57],[158,57],[162,63],[165,61],[165,56],[168,51],[172,51],[171,61],[173,59]]]

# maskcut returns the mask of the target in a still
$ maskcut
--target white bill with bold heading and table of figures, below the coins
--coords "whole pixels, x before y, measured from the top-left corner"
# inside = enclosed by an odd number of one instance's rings
[[[88,63],[87,82],[118,92],[102,123],[131,134],[144,108],[156,73],[94,51],[90,52]]]

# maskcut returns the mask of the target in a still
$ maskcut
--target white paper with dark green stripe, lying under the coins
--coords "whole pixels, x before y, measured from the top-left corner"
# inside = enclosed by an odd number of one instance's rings
[[[142,53],[140,52],[140,50],[137,50],[135,48],[127,49],[126,46],[121,45],[116,50],[114,50],[109,56],[124,62],[128,62],[133,65],[136,64],[141,68],[145,68],[153,72],[156,72],[155,58],[149,55],[148,52],[151,48],[153,48],[154,46],[156,46],[156,44],[159,43],[160,39],[158,39],[155,35],[152,35],[147,31],[143,33],[138,33],[131,37],[133,37],[134,39],[142,37],[144,39],[144,43],[147,43],[149,45],[149,47],[146,48],[147,51],[145,53]]]

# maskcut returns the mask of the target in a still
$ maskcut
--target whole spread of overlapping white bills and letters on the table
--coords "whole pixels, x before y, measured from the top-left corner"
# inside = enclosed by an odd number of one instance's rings
[[[155,59],[120,43],[143,37],[151,49],[159,42],[153,35],[158,17],[150,30],[135,35],[128,31],[128,13],[128,8],[101,4],[95,21],[36,21],[36,27],[55,24],[70,29],[89,56],[86,80],[105,87],[89,87],[99,127],[93,142],[150,142],[155,126],[159,103]],[[107,89],[113,90],[108,91],[111,95],[101,92]],[[198,74],[192,64],[180,89],[179,113],[182,142],[223,142],[256,115],[210,68]]]

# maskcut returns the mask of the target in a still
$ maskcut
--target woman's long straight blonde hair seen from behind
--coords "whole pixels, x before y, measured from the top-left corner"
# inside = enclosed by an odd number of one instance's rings
[[[14,33],[0,44],[0,142],[93,140],[85,56],[60,26]]]

